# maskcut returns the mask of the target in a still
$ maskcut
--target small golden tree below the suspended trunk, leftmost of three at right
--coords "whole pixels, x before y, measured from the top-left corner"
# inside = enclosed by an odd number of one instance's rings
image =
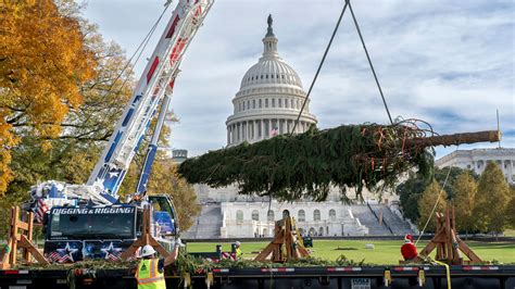
[[[422,193],[418,200],[418,211],[420,217],[418,218],[417,225],[422,230],[429,219],[426,231],[436,231],[437,222],[435,214],[437,212],[444,213],[447,208],[447,191],[441,188],[437,180],[434,180]],[[438,204],[437,204],[438,200]],[[431,216],[432,209],[437,204],[434,215]]]

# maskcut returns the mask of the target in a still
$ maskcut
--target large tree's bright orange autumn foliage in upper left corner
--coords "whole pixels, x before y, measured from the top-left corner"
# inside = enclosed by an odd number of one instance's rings
[[[0,193],[13,179],[12,149],[22,135],[53,138],[96,60],[78,21],[51,0],[0,3]],[[42,142],[49,148],[48,142]]]

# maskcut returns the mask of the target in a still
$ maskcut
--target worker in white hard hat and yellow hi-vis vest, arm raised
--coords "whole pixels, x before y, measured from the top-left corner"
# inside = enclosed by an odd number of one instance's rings
[[[166,289],[164,267],[173,264],[177,260],[179,247],[181,246],[183,243],[178,240],[172,253],[165,259],[155,257],[155,250],[150,244],[140,248],[139,257],[141,261],[136,268],[138,289]]]

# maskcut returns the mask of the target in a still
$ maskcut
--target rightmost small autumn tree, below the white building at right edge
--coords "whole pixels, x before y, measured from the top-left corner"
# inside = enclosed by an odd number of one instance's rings
[[[504,174],[494,162],[489,162],[479,177],[474,211],[479,229],[498,237],[507,225],[505,213],[510,201],[510,187]]]

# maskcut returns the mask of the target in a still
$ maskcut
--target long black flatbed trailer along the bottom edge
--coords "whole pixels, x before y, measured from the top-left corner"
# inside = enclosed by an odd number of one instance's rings
[[[448,288],[444,266],[342,266],[214,268],[190,276],[191,288]],[[515,288],[515,265],[450,266],[452,288]],[[167,288],[184,288],[180,275],[166,276]],[[208,285],[209,284],[209,285]],[[136,288],[134,271],[0,271],[0,288]]]

